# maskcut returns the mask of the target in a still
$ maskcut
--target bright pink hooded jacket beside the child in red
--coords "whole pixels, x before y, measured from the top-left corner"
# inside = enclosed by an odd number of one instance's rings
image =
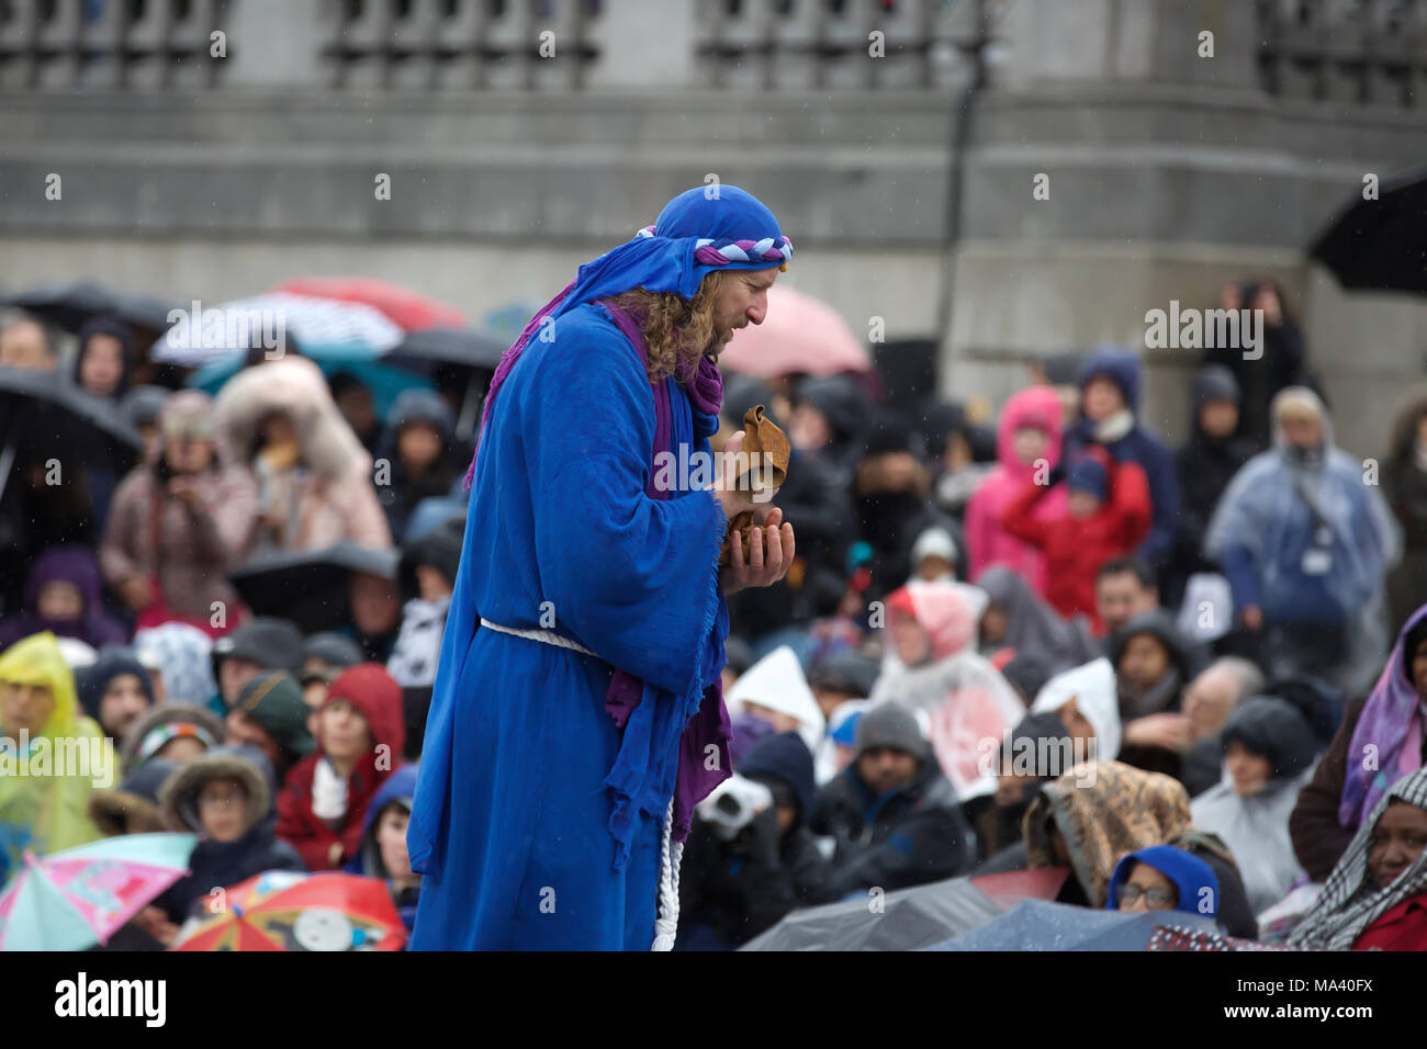
[[[1035,465],[1026,465],[1016,458],[1016,431],[1033,425],[1046,431],[1050,444],[1046,448],[1047,470],[1060,461],[1060,400],[1056,391],[1046,385],[1022,390],[1002,405],[996,422],[997,465],[982,481],[966,504],[966,572],[975,582],[992,565],[1006,565],[1022,575],[1036,591],[1046,594],[1046,564],[1035,547],[1022,542],[1000,525],[1002,512],[1016,495],[1035,480]],[[1065,517],[1065,487],[1049,492],[1036,504],[1036,517],[1050,520]]]

